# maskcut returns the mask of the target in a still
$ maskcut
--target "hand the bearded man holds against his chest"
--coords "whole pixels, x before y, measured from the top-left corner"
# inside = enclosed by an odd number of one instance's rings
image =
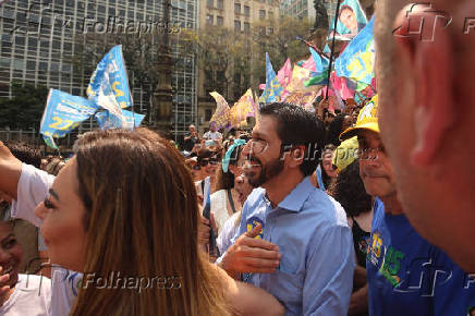
[[[263,229],[256,226],[251,232],[242,234],[228,250],[222,258],[221,268],[230,276],[236,274],[272,274],[280,265],[279,246],[265,241],[254,239]]]

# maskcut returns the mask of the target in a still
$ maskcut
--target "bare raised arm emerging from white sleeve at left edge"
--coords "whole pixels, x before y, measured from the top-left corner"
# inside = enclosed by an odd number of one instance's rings
[[[16,189],[22,174],[22,161],[0,142],[0,191],[16,199]]]

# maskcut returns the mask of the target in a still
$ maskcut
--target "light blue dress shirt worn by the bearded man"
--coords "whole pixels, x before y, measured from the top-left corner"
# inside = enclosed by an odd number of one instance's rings
[[[273,274],[243,279],[276,296],[287,315],[346,315],[355,258],[346,215],[338,202],[305,178],[272,209],[264,189],[243,206],[241,234],[263,224],[261,238],[279,246],[282,257]]]

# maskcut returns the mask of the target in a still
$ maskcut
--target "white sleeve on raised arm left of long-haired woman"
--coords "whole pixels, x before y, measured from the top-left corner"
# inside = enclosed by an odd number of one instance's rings
[[[36,206],[48,195],[48,190],[54,181],[54,175],[39,170],[31,165],[22,165],[16,199],[12,203],[12,217],[24,219],[36,227],[42,224],[35,216]]]

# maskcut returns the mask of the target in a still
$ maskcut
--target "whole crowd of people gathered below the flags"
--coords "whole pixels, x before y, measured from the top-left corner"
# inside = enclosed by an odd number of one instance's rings
[[[434,10],[378,2],[378,94],[341,112],[263,104],[180,150],[0,143],[0,314],[474,316],[475,5],[433,2],[453,22],[430,42],[392,29]]]

